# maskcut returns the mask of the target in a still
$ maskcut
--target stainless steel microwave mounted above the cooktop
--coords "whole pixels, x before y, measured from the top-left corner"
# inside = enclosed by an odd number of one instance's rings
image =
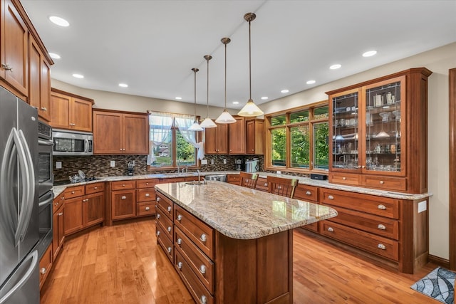
[[[52,132],[53,155],[92,155],[93,135],[86,132],[56,130]]]

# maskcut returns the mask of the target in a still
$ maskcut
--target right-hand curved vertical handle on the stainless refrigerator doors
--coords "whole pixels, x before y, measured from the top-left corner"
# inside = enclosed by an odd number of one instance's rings
[[[30,223],[31,214],[33,211],[33,204],[35,202],[35,171],[33,169],[33,159],[31,158],[30,149],[24,136],[24,132],[19,130],[18,132],[21,155],[24,157],[25,167],[22,169],[22,172],[25,172],[26,175],[26,200],[24,201],[24,196],[22,196],[22,209],[21,216],[19,218],[18,230],[16,231],[16,240],[24,241],[26,231],[28,229],[28,224]],[[20,162],[19,162],[20,163]],[[24,184],[23,184],[24,187]],[[24,210],[25,207],[25,210]],[[21,222],[22,221],[22,222]],[[17,234],[19,232],[19,234]],[[19,239],[18,239],[19,237]]]

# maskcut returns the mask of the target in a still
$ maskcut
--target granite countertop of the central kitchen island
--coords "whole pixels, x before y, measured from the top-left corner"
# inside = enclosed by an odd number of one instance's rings
[[[259,239],[337,216],[328,206],[225,182],[157,184],[155,189],[232,239]]]

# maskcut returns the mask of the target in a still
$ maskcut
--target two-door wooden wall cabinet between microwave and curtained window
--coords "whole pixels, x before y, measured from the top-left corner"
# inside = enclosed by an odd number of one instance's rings
[[[148,115],[93,110],[93,153],[148,154]]]

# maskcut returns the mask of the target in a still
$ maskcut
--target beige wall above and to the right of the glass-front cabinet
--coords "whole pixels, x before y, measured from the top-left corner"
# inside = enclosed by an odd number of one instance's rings
[[[311,90],[273,100],[260,106],[265,113],[326,100],[325,92],[354,85],[380,76],[425,67],[432,70],[429,77],[428,96],[428,175],[427,189],[433,195],[429,203],[430,254],[449,258],[449,117],[448,117],[448,70],[456,68],[456,43],[432,51],[420,53],[401,61],[373,68],[341,80],[320,85]]]

